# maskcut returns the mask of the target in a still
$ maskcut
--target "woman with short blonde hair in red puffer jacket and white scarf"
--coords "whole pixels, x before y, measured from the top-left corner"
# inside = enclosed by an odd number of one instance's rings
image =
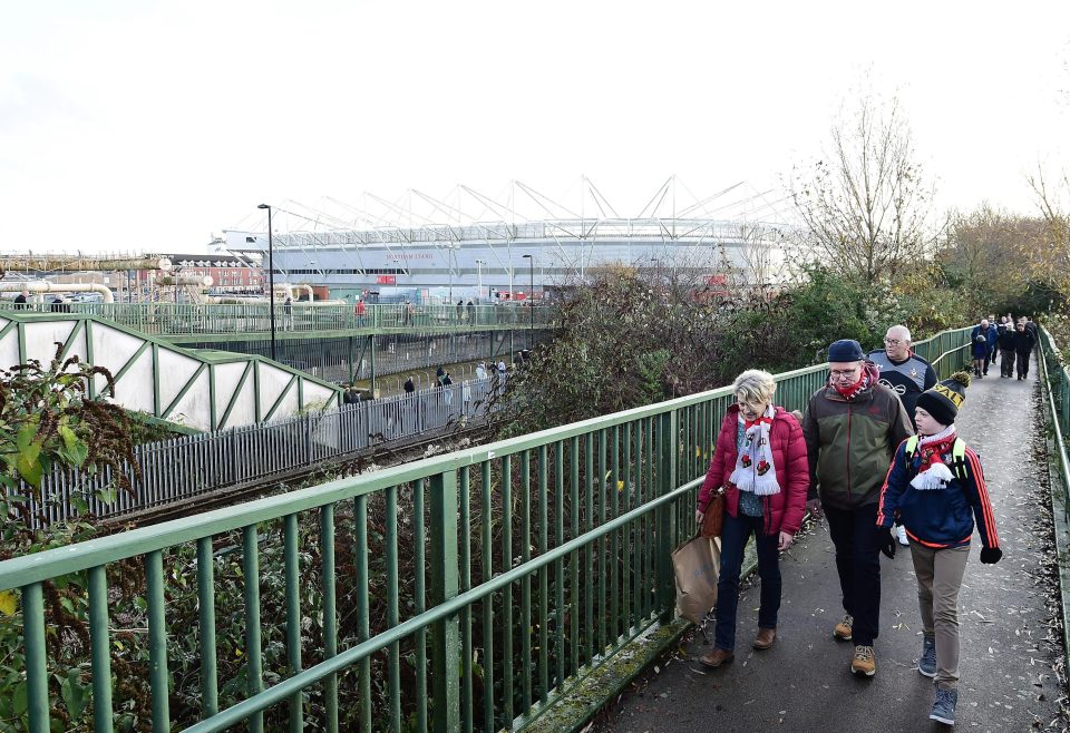
[[[751,369],[732,384],[736,404],[728,409],[710,470],[706,475],[696,519],[701,524],[714,492],[724,487],[721,530],[721,575],[717,584],[717,629],[713,651],[699,661],[708,667],[731,662],[736,647],[736,607],[743,548],[755,534],[761,603],[756,649],[777,638],[780,609],[780,564],[777,553],[791,547],[802,524],[809,466],[802,429],[795,416],[772,404],[777,383],[769,372]]]

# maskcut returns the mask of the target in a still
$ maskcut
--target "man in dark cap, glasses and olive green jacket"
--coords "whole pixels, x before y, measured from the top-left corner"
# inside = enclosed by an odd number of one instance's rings
[[[810,514],[828,518],[846,615],[833,632],[854,641],[850,670],[873,676],[879,631],[879,553],[895,555],[888,529],[877,527],[881,486],[899,443],[914,433],[895,392],[857,341],[828,348],[829,381],[810,397],[802,418],[810,463]],[[820,501],[818,501],[820,493]]]

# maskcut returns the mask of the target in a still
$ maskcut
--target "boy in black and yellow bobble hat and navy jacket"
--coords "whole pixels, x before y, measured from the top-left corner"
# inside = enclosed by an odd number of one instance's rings
[[[928,717],[947,725],[955,723],[959,702],[959,589],[974,519],[981,561],[1003,556],[981,461],[955,432],[969,385],[970,375],[957,372],[917,399],[918,438],[896,450],[877,512],[878,527],[898,518],[911,538],[924,633],[917,671],[936,682]]]

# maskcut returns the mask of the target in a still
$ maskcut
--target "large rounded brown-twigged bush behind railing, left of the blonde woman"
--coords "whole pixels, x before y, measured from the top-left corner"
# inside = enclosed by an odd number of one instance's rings
[[[568,289],[552,339],[510,379],[507,433],[650,404],[717,383],[718,306],[688,268],[610,266]]]

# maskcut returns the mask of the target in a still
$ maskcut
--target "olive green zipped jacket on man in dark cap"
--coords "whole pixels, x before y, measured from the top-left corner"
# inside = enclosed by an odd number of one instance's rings
[[[826,385],[810,397],[802,418],[810,463],[807,498],[836,509],[856,509],[881,499],[881,486],[899,443],[914,434],[895,392],[881,384],[872,362],[870,385],[847,401]]]

